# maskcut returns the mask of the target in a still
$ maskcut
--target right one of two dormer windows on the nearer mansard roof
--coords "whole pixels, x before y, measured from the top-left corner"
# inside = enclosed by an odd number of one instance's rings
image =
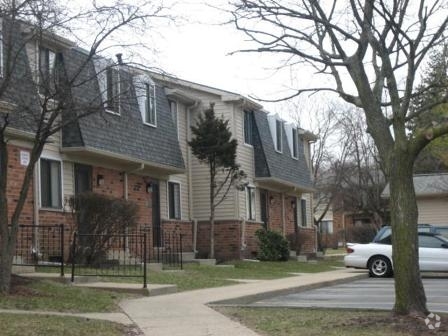
[[[143,123],[157,127],[156,85],[149,76],[138,75],[134,78],[134,87]]]

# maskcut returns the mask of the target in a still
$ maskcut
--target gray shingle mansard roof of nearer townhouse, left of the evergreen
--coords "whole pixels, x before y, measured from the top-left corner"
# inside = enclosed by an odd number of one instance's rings
[[[83,57],[77,53],[78,57]],[[93,65],[90,73],[93,72]],[[184,168],[174,122],[171,117],[168,99],[162,87],[156,85],[157,127],[145,125],[138,108],[132,78],[120,72],[124,94],[121,97],[120,115],[102,112],[78,121],[64,129],[63,146],[85,146],[114,154],[124,155],[136,160],[158,165]],[[73,99],[99,100],[99,87],[96,80],[86,82],[73,90]]]

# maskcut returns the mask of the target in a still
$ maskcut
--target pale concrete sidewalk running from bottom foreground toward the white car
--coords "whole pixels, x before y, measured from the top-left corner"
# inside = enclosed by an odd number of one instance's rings
[[[366,277],[348,269],[127,300],[123,311],[146,336],[257,336],[207,306],[249,302]]]

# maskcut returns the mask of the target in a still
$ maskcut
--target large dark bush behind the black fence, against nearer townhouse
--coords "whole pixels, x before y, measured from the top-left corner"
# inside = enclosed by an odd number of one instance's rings
[[[78,233],[78,262],[97,265],[107,259],[113,235],[136,226],[138,207],[134,202],[95,193],[83,193],[74,199]],[[94,236],[82,236],[89,234]]]

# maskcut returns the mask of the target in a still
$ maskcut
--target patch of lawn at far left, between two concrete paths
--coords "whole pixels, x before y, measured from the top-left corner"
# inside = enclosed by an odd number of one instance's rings
[[[58,312],[118,311],[118,301],[130,295],[73,287],[52,281],[14,277],[10,295],[0,295],[0,308]]]

